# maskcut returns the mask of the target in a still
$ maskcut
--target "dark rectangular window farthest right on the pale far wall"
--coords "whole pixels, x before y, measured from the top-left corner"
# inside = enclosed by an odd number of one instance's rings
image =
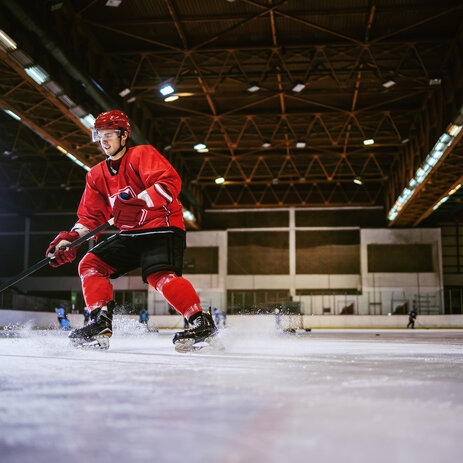
[[[368,272],[433,272],[432,244],[369,244]]]

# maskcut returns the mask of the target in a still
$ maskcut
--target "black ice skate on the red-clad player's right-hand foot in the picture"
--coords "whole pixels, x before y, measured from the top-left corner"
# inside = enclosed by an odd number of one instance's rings
[[[172,342],[177,352],[192,352],[206,347],[223,350],[223,344],[217,339],[217,327],[209,312],[198,312],[193,315],[193,328],[174,334]]]

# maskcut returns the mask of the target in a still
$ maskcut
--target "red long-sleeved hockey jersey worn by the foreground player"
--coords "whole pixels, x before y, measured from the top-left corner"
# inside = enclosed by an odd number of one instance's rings
[[[92,230],[106,222],[117,195],[126,193],[144,199],[147,207],[137,226],[122,226],[121,231],[159,227],[184,230],[182,205],[177,199],[181,185],[177,171],[159,151],[150,145],[135,146],[122,157],[117,171],[102,161],[87,173],[78,223]]]

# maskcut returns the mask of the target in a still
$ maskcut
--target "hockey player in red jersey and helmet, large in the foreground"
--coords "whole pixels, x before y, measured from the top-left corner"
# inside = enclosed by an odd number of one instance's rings
[[[106,160],[87,174],[77,210],[78,221],[50,243],[46,255],[57,267],[76,258],[77,248],[66,248],[112,213],[121,232],[91,249],[79,263],[79,275],[90,323],[73,330],[75,345],[107,349],[112,335],[115,303],[109,279],[141,267],[142,278],[160,292],[193,328],[173,337],[175,349],[186,352],[211,340],[217,328],[203,312],[191,283],[182,277],[185,226],[177,199],[181,180],[172,165],[150,145],[127,147],[130,123],[122,111],[100,114],[93,141]]]

